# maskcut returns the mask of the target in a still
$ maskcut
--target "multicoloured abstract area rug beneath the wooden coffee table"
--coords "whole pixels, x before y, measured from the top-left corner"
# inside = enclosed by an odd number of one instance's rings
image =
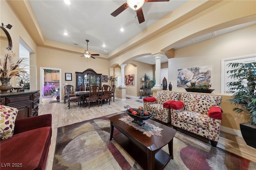
[[[120,112],[121,113],[121,112]],[[109,115],[110,117],[112,115]],[[114,139],[110,121],[100,117],[58,128],[54,170],[141,170]],[[114,134],[119,133],[114,130]],[[151,136],[151,137],[154,137]],[[253,170],[256,162],[214,148],[210,143],[177,131],[173,141],[174,160],[164,170]],[[168,146],[162,148],[168,152]],[[146,160],[145,160],[146,161]]]

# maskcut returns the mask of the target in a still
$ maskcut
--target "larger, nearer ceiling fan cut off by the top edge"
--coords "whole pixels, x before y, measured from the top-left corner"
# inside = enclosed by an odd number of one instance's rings
[[[127,0],[127,2],[122,4],[122,6],[117,8],[110,15],[116,17],[121,12],[123,12],[126,8],[130,7],[136,11],[137,18],[139,20],[139,23],[141,24],[142,22],[145,21],[145,18],[144,18],[143,12],[142,12],[142,5],[144,4],[144,2],[165,2],[165,1],[170,1],[170,0]]]

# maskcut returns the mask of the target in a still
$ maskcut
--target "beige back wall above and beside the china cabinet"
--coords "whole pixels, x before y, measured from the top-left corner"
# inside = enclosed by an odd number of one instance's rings
[[[76,73],[83,72],[90,68],[102,75],[109,75],[109,61],[107,59],[89,58],[88,61],[85,57],[80,57],[79,53],[70,53],[58,49],[52,49],[48,47],[38,47],[38,72],[40,67],[57,68],[61,69],[61,91],[64,94],[64,85],[68,83],[76,87]],[[72,73],[72,81],[65,81],[65,73]],[[108,83],[102,83],[110,85]]]

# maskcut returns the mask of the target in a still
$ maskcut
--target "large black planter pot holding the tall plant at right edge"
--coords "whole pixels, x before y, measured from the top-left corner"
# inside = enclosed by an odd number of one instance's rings
[[[250,122],[240,123],[240,130],[246,144],[256,148],[256,126]]]

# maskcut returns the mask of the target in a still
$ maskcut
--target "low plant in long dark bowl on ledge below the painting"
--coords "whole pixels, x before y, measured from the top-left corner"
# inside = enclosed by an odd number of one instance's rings
[[[186,91],[188,92],[197,92],[197,93],[212,93],[214,89],[210,89],[212,84],[210,83],[196,83],[193,81],[190,81],[190,86],[188,86]]]

